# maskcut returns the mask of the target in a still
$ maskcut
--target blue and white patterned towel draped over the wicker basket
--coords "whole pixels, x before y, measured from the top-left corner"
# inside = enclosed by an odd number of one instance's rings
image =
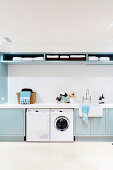
[[[22,91],[20,92],[20,103],[21,104],[30,104],[30,91]]]

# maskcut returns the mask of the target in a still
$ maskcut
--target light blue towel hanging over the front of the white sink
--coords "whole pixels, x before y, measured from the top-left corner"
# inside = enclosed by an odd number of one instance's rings
[[[89,114],[90,106],[88,105],[81,105],[83,120],[87,124],[88,123],[88,114]]]

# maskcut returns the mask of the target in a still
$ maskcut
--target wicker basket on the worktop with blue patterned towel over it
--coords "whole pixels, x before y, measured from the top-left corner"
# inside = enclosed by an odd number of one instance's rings
[[[36,92],[33,92],[32,89],[22,89],[16,94],[18,104],[34,104],[36,102]]]

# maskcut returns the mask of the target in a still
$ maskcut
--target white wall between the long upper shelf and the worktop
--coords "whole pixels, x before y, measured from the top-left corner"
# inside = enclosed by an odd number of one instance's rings
[[[55,102],[61,90],[75,91],[80,102],[88,88],[92,101],[101,93],[106,102],[113,102],[113,66],[93,65],[9,65],[9,102],[16,103],[16,92],[32,88],[37,92],[37,102]]]

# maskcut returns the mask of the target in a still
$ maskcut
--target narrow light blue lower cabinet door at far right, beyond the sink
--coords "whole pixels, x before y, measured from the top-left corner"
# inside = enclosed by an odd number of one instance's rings
[[[113,135],[113,109],[106,109],[106,135]]]

